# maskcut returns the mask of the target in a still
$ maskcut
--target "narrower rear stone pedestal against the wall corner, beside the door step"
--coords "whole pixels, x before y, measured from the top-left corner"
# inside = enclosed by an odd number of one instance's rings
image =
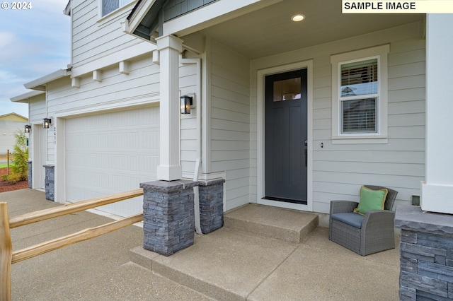
[[[200,228],[203,234],[222,228],[224,225],[224,179],[200,182]]]

